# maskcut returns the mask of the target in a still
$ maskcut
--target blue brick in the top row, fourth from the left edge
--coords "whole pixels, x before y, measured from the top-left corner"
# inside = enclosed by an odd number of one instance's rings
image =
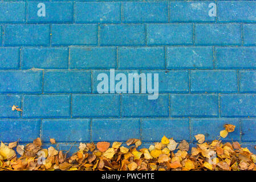
[[[126,23],[167,23],[167,2],[124,2],[123,22]]]

